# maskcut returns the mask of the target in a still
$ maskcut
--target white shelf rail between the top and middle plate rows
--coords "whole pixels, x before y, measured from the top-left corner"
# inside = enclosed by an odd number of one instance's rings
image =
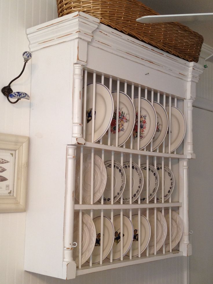
[[[157,152],[150,152],[150,151],[144,151],[144,150],[133,150],[133,149],[127,149],[123,147],[115,147],[115,146],[108,146],[104,144],[98,144],[98,143],[91,143],[91,142],[85,142],[85,145],[78,145],[83,146],[86,149],[98,149],[98,150],[107,150],[107,151],[114,151],[114,152],[120,152],[120,153],[129,153],[129,154],[135,154],[135,155],[144,155],[144,156],[152,156],[152,157],[165,157],[165,158],[176,158],[176,159],[187,159],[186,155],[179,155],[179,154],[168,154],[168,153],[157,153]]]

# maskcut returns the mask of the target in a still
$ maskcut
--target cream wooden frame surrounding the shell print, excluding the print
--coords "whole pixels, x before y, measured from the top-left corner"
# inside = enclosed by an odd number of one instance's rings
[[[29,137],[0,133],[0,149],[16,151],[14,194],[0,196],[0,213],[24,212],[27,191]]]

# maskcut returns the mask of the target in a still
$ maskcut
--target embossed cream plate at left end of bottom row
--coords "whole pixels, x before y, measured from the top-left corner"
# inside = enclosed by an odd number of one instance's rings
[[[79,243],[79,212],[74,212],[73,241]],[[81,264],[90,257],[96,242],[96,228],[92,219],[82,212],[82,239],[81,239]],[[73,259],[79,264],[78,246],[73,250]]]

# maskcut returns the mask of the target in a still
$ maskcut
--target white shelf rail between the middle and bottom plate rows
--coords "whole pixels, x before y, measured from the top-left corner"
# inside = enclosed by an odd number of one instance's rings
[[[165,208],[165,207],[181,207],[182,202],[165,202],[165,203],[149,203],[149,204],[75,204],[75,210],[86,209],[137,209],[137,208]]]

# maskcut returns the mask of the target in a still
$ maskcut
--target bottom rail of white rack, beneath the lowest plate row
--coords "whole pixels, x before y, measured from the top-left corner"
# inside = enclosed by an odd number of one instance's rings
[[[82,266],[81,269],[76,269],[76,276],[88,274],[92,272],[113,269],[113,268],[124,267],[128,265],[135,265],[135,264],[146,263],[150,261],[168,259],[168,258],[172,258],[176,256],[182,256],[182,255],[183,253],[180,252],[179,250],[173,250],[172,252],[166,252],[165,254],[158,252],[156,255],[150,254],[149,256],[141,256],[140,258],[134,257],[131,260],[130,259],[124,259],[123,261],[114,260],[113,263],[109,263],[109,260],[107,260],[106,262],[103,261],[102,265],[93,264],[92,267],[90,267],[88,263],[88,265]]]

